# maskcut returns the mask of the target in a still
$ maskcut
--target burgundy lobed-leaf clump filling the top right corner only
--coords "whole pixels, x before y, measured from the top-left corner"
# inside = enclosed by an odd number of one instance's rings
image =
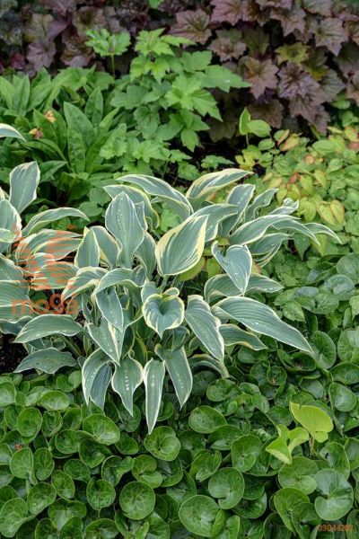
[[[197,7],[197,9],[196,9]],[[358,104],[358,12],[340,0],[212,0],[176,14],[175,35],[188,37],[251,83],[231,94],[226,128],[234,135],[233,102],[276,128],[304,119],[319,131],[328,125],[328,107],[342,93]],[[287,127],[288,127],[287,126]],[[226,135],[225,135],[226,132]]]

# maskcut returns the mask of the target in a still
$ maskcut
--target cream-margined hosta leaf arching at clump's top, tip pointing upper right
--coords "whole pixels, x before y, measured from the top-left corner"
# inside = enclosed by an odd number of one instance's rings
[[[250,172],[241,169],[225,169],[221,172],[210,172],[193,181],[186,196],[188,199],[206,199],[209,195],[221,190],[235,181],[240,181]]]

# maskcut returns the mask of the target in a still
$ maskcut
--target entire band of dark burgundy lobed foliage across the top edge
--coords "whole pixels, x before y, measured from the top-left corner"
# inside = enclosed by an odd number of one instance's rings
[[[338,95],[359,105],[356,0],[164,0],[155,9],[148,0],[2,0],[0,72],[90,66],[99,57],[85,44],[88,29],[126,29],[135,38],[160,27],[213,51],[252,84],[226,101],[217,96],[231,121],[214,122],[214,140],[226,127],[231,137],[244,105],[276,128],[305,120],[322,131]]]

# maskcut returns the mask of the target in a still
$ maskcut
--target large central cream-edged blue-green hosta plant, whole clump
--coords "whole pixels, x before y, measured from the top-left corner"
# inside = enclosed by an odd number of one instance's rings
[[[260,275],[260,267],[292,234],[315,242],[316,234],[333,233],[324,225],[302,225],[289,199],[263,215],[276,190],[253,199],[252,185],[237,184],[247,174],[206,174],[186,195],[141,175],[106,188],[112,198],[106,226],[85,230],[74,256],[76,273],[62,292],[63,302],[77,302],[77,313],[42,314],[27,323],[16,340],[31,353],[19,370],[54,372],[68,360],[69,341],[59,335],[74,337],[71,350],[80,357],[86,402],[103,406],[111,384],[132,414],[133,395],[144,383],[152,431],[166,373],[183,405],[192,368],[213,367],[226,376],[226,347],[266,348],[258,334],[311,354],[302,334],[253,296],[280,288]],[[162,204],[180,219],[165,234],[159,227]]]

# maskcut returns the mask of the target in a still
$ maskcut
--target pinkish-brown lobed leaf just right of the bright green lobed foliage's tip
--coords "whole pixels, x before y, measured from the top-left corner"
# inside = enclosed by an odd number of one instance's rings
[[[258,99],[267,88],[275,89],[278,79],[277,66],[271,60],[258,60],[253,57],[242,57],[240,61],[244,80],[251,84],[250,92]]]

